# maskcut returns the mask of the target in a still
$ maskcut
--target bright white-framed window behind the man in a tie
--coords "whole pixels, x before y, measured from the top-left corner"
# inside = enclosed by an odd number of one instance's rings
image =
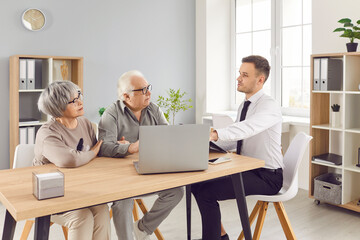
[[[311,0],[235,0],[233,52],[233,79],[243,57],[262,55],[271,65],[265,92],[281,103],[284,114],[309,114]],[[244,95],[235,87],[233,92],[235,109]]]

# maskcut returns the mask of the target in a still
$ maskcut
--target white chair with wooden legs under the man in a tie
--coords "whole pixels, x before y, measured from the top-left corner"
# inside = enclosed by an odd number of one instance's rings
[[[300,132],[291,141],[291,144],[284,156],[285,167],[283,172],[283,187],[278,194],[248,196],[248,198],[257,200],[257,203],[249,217],[251,225],[254,222],[256,216],[258,216],[253,236],[254,240],[260,238],[269,202],[272,202],[275,206],[276,213],[279,217],[286,238],[296,239],[282,202],[292,199],[298,192],[298,169],[306,147],[308,146],[311,139],[311,136]],[[243,238],[244,233],[241,232],[238,240],[242,240]]]

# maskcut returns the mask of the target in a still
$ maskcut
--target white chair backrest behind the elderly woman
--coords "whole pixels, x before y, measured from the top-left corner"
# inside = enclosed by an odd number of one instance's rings
[[[13,168],[32,166],[35,144],[19,144],[15,148]]]

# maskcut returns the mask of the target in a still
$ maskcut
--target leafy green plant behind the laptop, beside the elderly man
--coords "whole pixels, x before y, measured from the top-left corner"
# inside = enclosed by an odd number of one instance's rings
[[[181,93],[180,89],[174,90],[170,88],[167,93],[169,97],[165,98],[163,96],[159,96],[156,102],[159,107],[165,109],[164,115],[168,122],[170,122],[170,115],[172,115],[172,124],[174,125],[176,113],[192,108],[192,106],[189,105],[189,103],[191,103],[191,99],[183,99],[186,92]]]

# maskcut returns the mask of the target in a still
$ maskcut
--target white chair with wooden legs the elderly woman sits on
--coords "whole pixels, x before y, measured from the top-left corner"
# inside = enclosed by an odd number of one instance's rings
[[[32,161],[34,159],[34,144],[19,144],[16,146],[14,154],[14,164],[13,168],[22,168],[32,166]],[[29,236],[31,228],[35,223],[34,220],[26,220],[24,230],[20,236],[20,240],[26,240]],[[53,225],[53,222],[50,222],[50,226]],[[64,237],[67,240],[68,229],[65,226],[61,226]]]

